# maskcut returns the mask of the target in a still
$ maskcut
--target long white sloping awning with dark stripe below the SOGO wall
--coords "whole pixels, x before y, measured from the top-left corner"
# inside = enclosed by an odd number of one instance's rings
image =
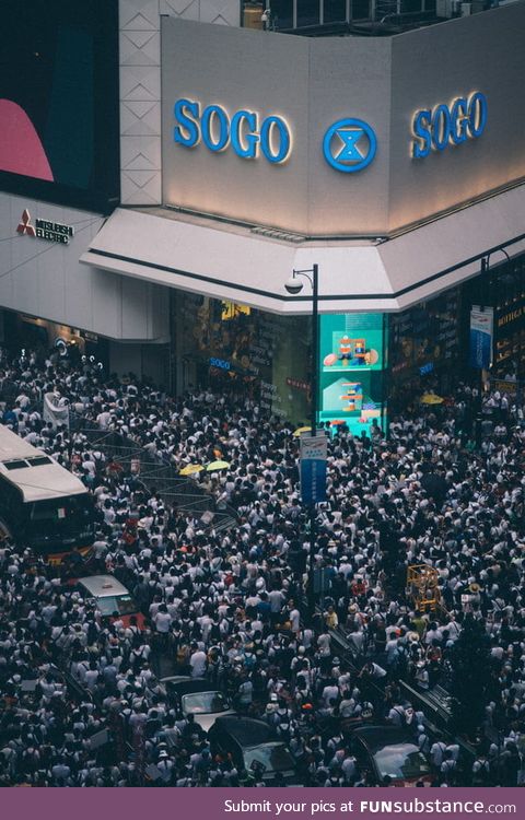
[[[306,286],[284,290],[292,269],[319,268],[319,309],[399,311],[525,249],[525,186],[415,227],[393,239],[306,241],[172,209],[117,209],[81,261],[122,276],[240,302],[262,311],[311,311]]]

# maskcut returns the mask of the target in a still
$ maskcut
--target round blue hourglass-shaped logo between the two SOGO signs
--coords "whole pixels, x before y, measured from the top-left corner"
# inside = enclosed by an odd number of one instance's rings
[[[326,162],[345,174],[353,174],[370,165],[376,148],[375,133],[362,119],[338,119],[323,140]]]

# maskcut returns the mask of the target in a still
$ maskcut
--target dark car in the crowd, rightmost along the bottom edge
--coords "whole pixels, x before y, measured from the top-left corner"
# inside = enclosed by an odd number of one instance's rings
[[[376,786],[433,783],[430,763],[407,729],[361,726],[351,733],[349,742],[361,773],[366,772]]]

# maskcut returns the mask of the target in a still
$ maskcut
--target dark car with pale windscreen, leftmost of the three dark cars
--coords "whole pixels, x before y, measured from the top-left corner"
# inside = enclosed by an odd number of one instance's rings
[[[237,714],[230,708],[222,692],[214,689],[206,678],[190,678],[186,675],[161,678],[153,691],[180,708],[185,717],[194,715],[195,723],[205,731],[209,731],[218,717]]]

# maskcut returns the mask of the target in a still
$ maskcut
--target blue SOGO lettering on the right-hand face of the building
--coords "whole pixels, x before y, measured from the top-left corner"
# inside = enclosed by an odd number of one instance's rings
[[[486,125],[487,97],[479,91],[457,97],[450,105],[436,105],[432,110],[422,108],[413,115],[412,157],[420,160],[432,149],[443,151],[447,145],[460,145],[467,139],[480,137]]]

